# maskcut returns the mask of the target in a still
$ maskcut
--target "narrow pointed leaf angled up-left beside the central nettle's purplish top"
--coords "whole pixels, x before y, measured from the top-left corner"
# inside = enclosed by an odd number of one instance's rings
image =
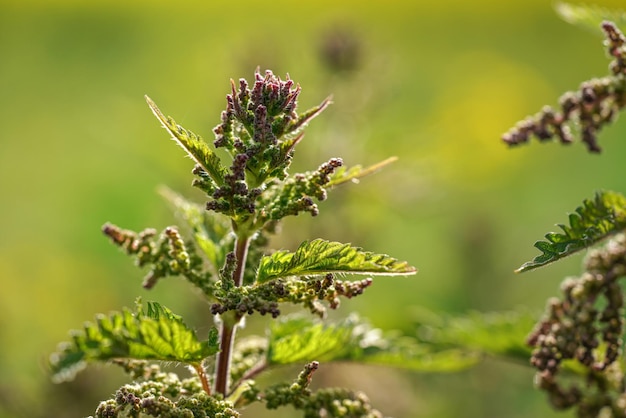
[[[157,105],[148,96],[146,101],[152,110],[152,113],[159,119],[163,127],[170,133],[172,139],[180,145],[187,155],[191,157],[202,169],[211,177],[218,186],[224,184],[224,175],[227,173],[226,168],[217,156],[207,145],[204,140],[191,131],[176,124],[174,119],[166,117]]]

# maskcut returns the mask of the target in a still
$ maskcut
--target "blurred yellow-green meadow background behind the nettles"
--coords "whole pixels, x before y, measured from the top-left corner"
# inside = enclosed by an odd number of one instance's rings
[[[47,355],[69,329],[137,295],[189,316],[200,335],[208,329],[208,306],[189,286],[169,279],[144,291],[143,273],[100,233],[107,221],[136,230],[175,222],[161,184],[202,200],[191,162],[144,94],[207,139],[229,79],[250,79],[257,66],[299,82],[300,109],[332,94],[297,170],[334,156],[400,159],[333,191],[319,217],[287,221],[274,246],[324,237],[416,265],[417,276],[377,279],[337,313],[411,333],[416,309],[540,312],[579,272],[581,256],[523,276],[513,269],[595,190],[626,191],[615,169],[626,122],[602,133],[601,155],[581,144],[510,150],[499,138],[607,64],[601,37],[544,0],[3,0],[0,416],[93,413],[121,372],[95,367],[53,385]],[[450,375],[326,365],[319,382],[363,389],[397,417],[556,416],[532,375],[501,361]]]

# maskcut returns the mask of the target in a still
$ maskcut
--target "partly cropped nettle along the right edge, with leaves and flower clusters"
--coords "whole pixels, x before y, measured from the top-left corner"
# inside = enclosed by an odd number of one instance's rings
[[[606,11],[561,4],[568,21],[600,27],[611,63],[610,74],[581,84],[560,99],[560,109],[545,107],[503,135],[509,145],[558,138],[574,141],[578,131],[590,152],[600,152],[597,133],[626,107],[626,37],[617,24],[602,21]],[[624,14],[612,13],[623,22]],[[569,215],[561,232],[535,243],[541,254],[522,265],[524,272],[589,249],[584,272],[561,285],[562,296],[548,301],[546,313],[528,337],[536,384],[557,409],[575,408],[579,417],[626,417],[623,359],[626,276],[626,197],[600,191]],[[593,248],[601,241],[600,247]]]

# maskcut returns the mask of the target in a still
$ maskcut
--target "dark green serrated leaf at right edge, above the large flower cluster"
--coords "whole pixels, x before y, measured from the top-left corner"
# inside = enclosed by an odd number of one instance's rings
[[[552,263],[626,229],[626,197],[611,191],[599,192],[569,215],[569,226],[559,227],[562,233],[550,232],[545,235],[545,241],[535,243],[542,254],[524,263],[516,272]]]

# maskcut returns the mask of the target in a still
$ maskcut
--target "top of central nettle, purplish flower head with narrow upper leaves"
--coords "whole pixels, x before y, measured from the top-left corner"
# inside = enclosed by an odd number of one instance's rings
[[[213,145],[230,154],[230,166],[199,135],[166,117],[147,98],[161,124],[196,162],[192,184],[209,196],[206,209],[230,217],[238,235],[252,236],[271,222],[301,212],[315,216],[319,209],[314,199],[325,200],[327,188],[356,181],[395,160],[345,169],[340,158],[332,158],[314,172],[290,176],[287,170],[302,129],[330,104],[327,98],[298,114],[300,91],[289,76],[283,81],[271,71],[263,76],[257,70],[252,88],[244,79],[239,88],[231,80],[222,122],[213,130]]]

